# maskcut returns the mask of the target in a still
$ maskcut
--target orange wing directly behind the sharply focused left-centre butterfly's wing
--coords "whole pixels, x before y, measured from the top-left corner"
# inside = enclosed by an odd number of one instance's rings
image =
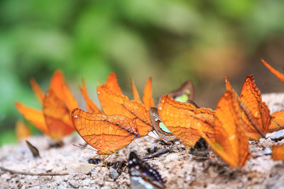
[[[107,115],[123,115],[135,119],[141,137],[153,130],[149,110],[138,101],[129,101],[123,94],[116,93],[107,85],[97,86],[97,95],[102,110]]]

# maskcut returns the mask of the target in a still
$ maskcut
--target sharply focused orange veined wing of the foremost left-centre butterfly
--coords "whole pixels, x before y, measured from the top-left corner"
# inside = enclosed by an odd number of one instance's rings
[[[97,154],[114,154],[138,136],[135,122],[122,115],[86,113],[79,108],[72,111],[72,122],[80,136],[97,149]]]

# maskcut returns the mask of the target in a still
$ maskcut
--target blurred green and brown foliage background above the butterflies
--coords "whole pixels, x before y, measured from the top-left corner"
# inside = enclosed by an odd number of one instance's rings
[[[98,103],[111,71],[130,98],[130,78],[142,92],[152,76],[155,103],[192,79],[195,102],[215,108],[225,74],[238,92],[247,74],[262,93],[281,92],[260,59],[283,71],[283,9],[281,0],[0,1],[0,145],[16,142],[15,101],[40,108],[29,79],[46,90],[55,69],[82,108],[81,78]]]

